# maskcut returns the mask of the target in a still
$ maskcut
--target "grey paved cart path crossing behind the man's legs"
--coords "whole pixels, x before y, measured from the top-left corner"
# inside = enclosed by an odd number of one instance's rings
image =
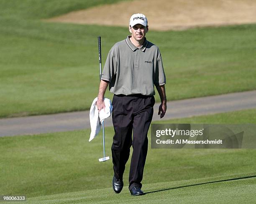
[[[154,106],[154,120],[159,103]],[[170,101],[164,120],[256,108],[256,90]],[[111,126],[111,117],[105,126]],[[0,137],[90,128],[89,111],[0,119]]]

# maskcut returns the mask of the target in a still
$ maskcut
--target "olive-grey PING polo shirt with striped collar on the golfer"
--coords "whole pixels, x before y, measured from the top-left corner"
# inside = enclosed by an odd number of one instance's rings
[[[111,48],[101,79],[110,82],[109,90],[115,95],[155,95],[154,85],[166,83],[159,48],[146,37],[138,48],[130,37]]]

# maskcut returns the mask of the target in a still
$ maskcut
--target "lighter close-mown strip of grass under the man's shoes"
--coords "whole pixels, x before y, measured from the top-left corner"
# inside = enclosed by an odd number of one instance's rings
[[[229,177],[210,177],[146,184],[146,195],[132,197],[127,189],[114,194],[112,188],[29,198],[28,203],[253,203],[256,178],[223,181]],[[208,183],[209,182],[209,183]],[[211,183],[216,182],[216,183]]]

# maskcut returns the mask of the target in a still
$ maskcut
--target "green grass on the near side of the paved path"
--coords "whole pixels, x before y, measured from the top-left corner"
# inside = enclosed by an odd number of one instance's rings
[[[255,123],[256,109],[213,114],[166,123]],[[219,120],[221,118],[221,120]],[[105,129],[106,154],[111,157],[113,127]],[[88,142],[89,129],[40,135],[0,137],[0,195],[26,195],[38,202],[206,202],[230,201],[234,197],[255,199],[255,177],[227,182],[182,187],[256,175],[255,149],[151,149],[149,146],[143,177],[145,199],[132,198],[128,192],[128,161],[125,187],[118,197],[111,190],[111,159],[102,157],[102,137]],[[149,132],[150,135],[150,132]],[[149,137],[150,144],[150,137]],[[181,187],[177,189],[171,189]],[[100,189],[97,194],[95,189]],[[166,190],[165,190],[166,189]],[[226,190],[225,190],[226,189]],[[238,192],[239,191],[239,192]],[[204,194],[205,192],[205,194]],[[60,194],[60,195],[53,195]],[[51,196],[52,195],[52,196]],[[105,197],[104,197],[105,195]]]

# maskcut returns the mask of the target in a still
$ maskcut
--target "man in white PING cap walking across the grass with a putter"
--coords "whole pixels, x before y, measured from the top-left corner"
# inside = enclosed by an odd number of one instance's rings
[[[115,193],[123,189],[125,164],[133,146],[129,190],[137,196],[144,194],[141,181],[148,151],[147,133],[155,104],[154,85],[161,98],[158,114],[162,118],[166,112],[166,79],[159,48],[145,37],[148,32],[146,16],[132,15],[129,31],[131,36],[117,42],[108,53],[96,105],[99,111],[105,108],[104,94],[109,85],[114,94],[113,189]]]

